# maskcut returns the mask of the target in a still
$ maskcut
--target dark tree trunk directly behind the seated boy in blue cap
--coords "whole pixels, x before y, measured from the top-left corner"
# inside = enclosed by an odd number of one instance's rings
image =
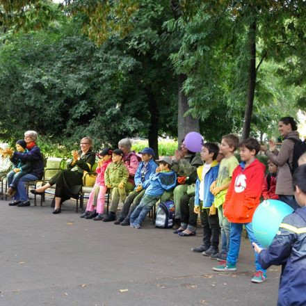
[[[159,108],[152,92],[148,94],[150,127],[148,131],[149,147],[155,152],[155,159],[159,159]]]

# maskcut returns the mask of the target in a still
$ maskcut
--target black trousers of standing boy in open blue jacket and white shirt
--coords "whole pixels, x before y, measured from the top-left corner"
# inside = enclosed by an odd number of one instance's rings
[[[204,208],[201,210],[201,215],[203,223],[203,244],[218,250],[220,235],[218,214],[216,212],[216,214],[209,216],[209,208]]]

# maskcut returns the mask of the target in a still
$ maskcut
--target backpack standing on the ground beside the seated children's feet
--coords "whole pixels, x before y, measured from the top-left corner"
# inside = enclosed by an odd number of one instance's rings
[[[168,200],[160,202],[156,211],[155,227],[171,228],[175,218],[175,202]]]

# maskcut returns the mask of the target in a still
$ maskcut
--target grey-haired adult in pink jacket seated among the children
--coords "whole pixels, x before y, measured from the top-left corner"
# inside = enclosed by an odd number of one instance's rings
[[[125,191],[129,194],[130,191],[133,191],[135,187],[134,177],[136,170],[139,165],[139,160],[134,151],[131,151],[131,140],[129,138],[123,138],[118,143],[118,148],[123,152],[123,161],[124,165],[127,166],[127,170],[129,170],[129,179],[127,181],[127,185],[125,186]],[[118,209],[118,202],[112,202],[111,207],[109,209],[109,214],[106,216],[103,221],[115,221],[116,211]]]

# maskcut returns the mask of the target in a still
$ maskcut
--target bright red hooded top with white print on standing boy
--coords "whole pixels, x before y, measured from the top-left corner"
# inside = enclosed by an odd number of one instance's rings
[[[224,216],[233,223],[250,223],[259,205],[265,166],[255,159],[245,168],[241,162],[233,172],[223,204]]]

